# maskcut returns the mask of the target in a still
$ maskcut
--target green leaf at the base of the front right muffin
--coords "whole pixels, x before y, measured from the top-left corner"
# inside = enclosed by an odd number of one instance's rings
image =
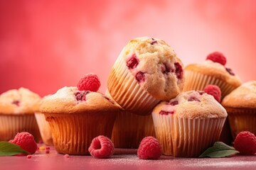
[[[225,145],[223,142],[215,142],[213,147],[206,149],[199,157],[221,158],[230,157],[239,153],[234,147]]]

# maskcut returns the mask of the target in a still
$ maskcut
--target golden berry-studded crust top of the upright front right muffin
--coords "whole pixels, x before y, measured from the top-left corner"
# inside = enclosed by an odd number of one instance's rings
[[[189,98],[196,98],[198,101],[188,101]],[[178,101],[172,106],[170,103]],[[157,105],[152,114],[159,114],[161,111],[173,112],[174,118],[226,118],[225,108],[216,101],[213,96],[206,93],[200,94],[198,91],[186,91],[179,94],[171,101],[162,101]],[[165,116],[165,115],[163,115]]]

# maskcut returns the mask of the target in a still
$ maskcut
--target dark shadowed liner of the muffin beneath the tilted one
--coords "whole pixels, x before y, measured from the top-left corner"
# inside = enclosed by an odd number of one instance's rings
[[[117,114],[111,138],[114,147],[138,148],[146,136],[155,137],[151,115],[136,115],[126,111]]]

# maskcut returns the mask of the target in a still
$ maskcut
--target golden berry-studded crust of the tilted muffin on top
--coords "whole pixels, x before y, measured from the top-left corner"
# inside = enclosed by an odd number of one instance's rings
[[[154,42],[154,44],[152,44]],[[139,60],[137,67],[129,69],[129,74],[127,76],[132,77],[136,81],[136,75],[138,72],[143,72],[145,76],[145,81],[137,83],[142,86],[144,91],[149,95],[153,96],[158,100],[168,101],[171,98],[176,97],[182,90],[184,86],[184,75],[181,72],[181,78],[178,79],[175,74],[174,63],[180,64],[183,69],[183,63],[176,57],[174,50],[164,42],[157,38],[135,38],[130,40],[127,45],[123,48],[122,52],[119,54],[119,59],[123,63],[127,63],[132,56],[136,55]],[[115,62],[115,64],[119,64]],[[108,80],[108,89],[112,93],[112,79],[116,77],[115,75],[119,72],[119,66],[115,65],[112,67],[110,72],[110,77]],[[164,74],[162,69],[164,67],[169,67],[168,69],[172,72]],[[165,69],[165,68],[164,68]],[[119,82],[120,84],[120,82]],[[125,86],[121,83],[122,86]],[[114,84],[113,86],[116,86]],[[122,86],[120,88],[122,88]]]

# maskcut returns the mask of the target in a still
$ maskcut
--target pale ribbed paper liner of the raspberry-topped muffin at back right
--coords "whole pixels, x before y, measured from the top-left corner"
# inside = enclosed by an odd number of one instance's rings
[[[208,84],[213,84],[220,87],[221,96],[222,98],[224,98],[236,88],[236,86],[232,86],[223,80],[216,79],[213,76],[208,76],[199,72],[186,71],[185,74],[186,81],[183,91],[203,91],[205,86],[207,86]]]

